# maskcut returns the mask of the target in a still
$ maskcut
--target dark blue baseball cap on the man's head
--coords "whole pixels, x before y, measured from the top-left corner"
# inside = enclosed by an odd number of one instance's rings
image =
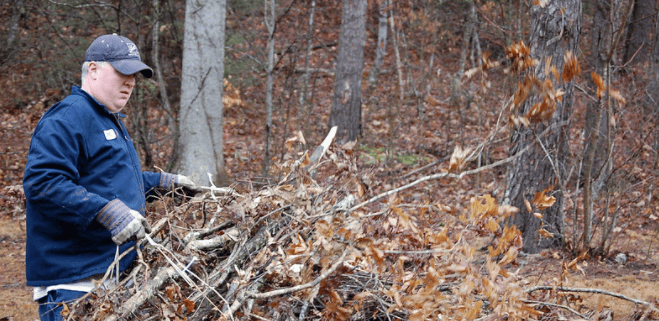
[[[139,71],[146,78],[153,76],[153,69],[142,62],[137,46],[128,38],[117,34],[96,38],[87,48],[85,61],[107,61],[124,75]]]

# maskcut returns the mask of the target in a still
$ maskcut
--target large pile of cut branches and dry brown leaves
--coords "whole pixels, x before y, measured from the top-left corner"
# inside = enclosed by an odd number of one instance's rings
[[[501,223],[515,208],[489,195],[464,211],[419,193],[407,203],[399,193],[374,197],[383,183],[356,166],[349,148],[335,148],[320,162],[305,154],[280,165],[279,183],[258,191],[163,196],[132,269],[66,306],[65,319],[580,316],[543,303],[556,302],[555,291],[527,293],[508,270],[522,240]]]

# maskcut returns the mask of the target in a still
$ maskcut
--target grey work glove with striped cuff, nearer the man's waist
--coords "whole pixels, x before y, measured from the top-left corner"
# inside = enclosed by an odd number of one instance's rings
[[[143,239],[146,233],[151,233],[151,226],[140,212],[130,209],[120,200],[113,200],[96,215],[96,220],[105,226],[112,241],[121,245],[135,237]]]

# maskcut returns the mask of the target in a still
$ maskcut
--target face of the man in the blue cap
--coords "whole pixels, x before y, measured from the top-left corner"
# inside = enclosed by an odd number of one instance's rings
[[[110,112],[116,113],[126,106],[135,87],[135,75],[123,75],[110,63],[96,65],[96,78],[91,86],[91,94]],[[93,72],[93,71],[92,71]]]

